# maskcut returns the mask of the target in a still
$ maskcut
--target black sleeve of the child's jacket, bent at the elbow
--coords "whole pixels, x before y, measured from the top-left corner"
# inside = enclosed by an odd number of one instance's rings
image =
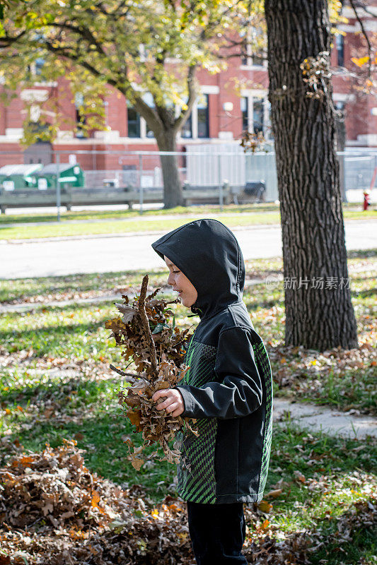
[[[214,372],[216,381],[203,386],[175,386],[182,394],[182,417],[237,418],[262,404],[262,383],[255,364],[248,328],[228,328],[220,333]]]

